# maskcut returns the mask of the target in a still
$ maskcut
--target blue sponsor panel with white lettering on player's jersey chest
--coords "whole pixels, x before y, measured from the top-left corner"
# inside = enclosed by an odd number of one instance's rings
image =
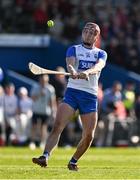
[[[96,64],[96,62],[93,61],[86,61],[86,60],[79,60],[79,70],[87,70],[93,67]]]

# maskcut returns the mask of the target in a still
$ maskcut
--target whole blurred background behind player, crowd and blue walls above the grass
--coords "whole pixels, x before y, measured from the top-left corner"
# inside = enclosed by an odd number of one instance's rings
[[[93,146],[140,145],[140,1],[0,0],[0,146],[44,147],[67,78],[38,78],[28,63],[65,71],[66,49],[88,21],[100,26],[98,47],[108,53]],[[77,112],[59,146],[75,146],[81,130]]]

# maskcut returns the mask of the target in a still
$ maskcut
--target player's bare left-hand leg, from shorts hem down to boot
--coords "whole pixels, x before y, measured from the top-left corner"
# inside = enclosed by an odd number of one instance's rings
[[[48,157],[51,154],[53,148],[58,144],[60,135],[68,121],[73,116],[74,112],[75,110],[66,103],[61,103],[59,105],[56,120],[53,129],[47,139],[44,153],[39,158],[33,158],[33,163],[36,163],[43,167],[47,166]]]

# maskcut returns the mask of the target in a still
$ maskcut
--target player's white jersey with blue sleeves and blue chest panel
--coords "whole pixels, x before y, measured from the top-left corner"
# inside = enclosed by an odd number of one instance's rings
[[[85,71],[93,67],[98,60],[106,61],[107,53],[99,48],[93,47],[92,49],[85,48],[82,44],[71,46],[67,51],[67,57],[75,57],[76,64],[74,66],[77,72]],[[97,96],[98,93],[98,80],[100,73],[90,75],[89,81],[85,79],[72,79],[68,80],[68,88],[74,88],[86,91]]]

